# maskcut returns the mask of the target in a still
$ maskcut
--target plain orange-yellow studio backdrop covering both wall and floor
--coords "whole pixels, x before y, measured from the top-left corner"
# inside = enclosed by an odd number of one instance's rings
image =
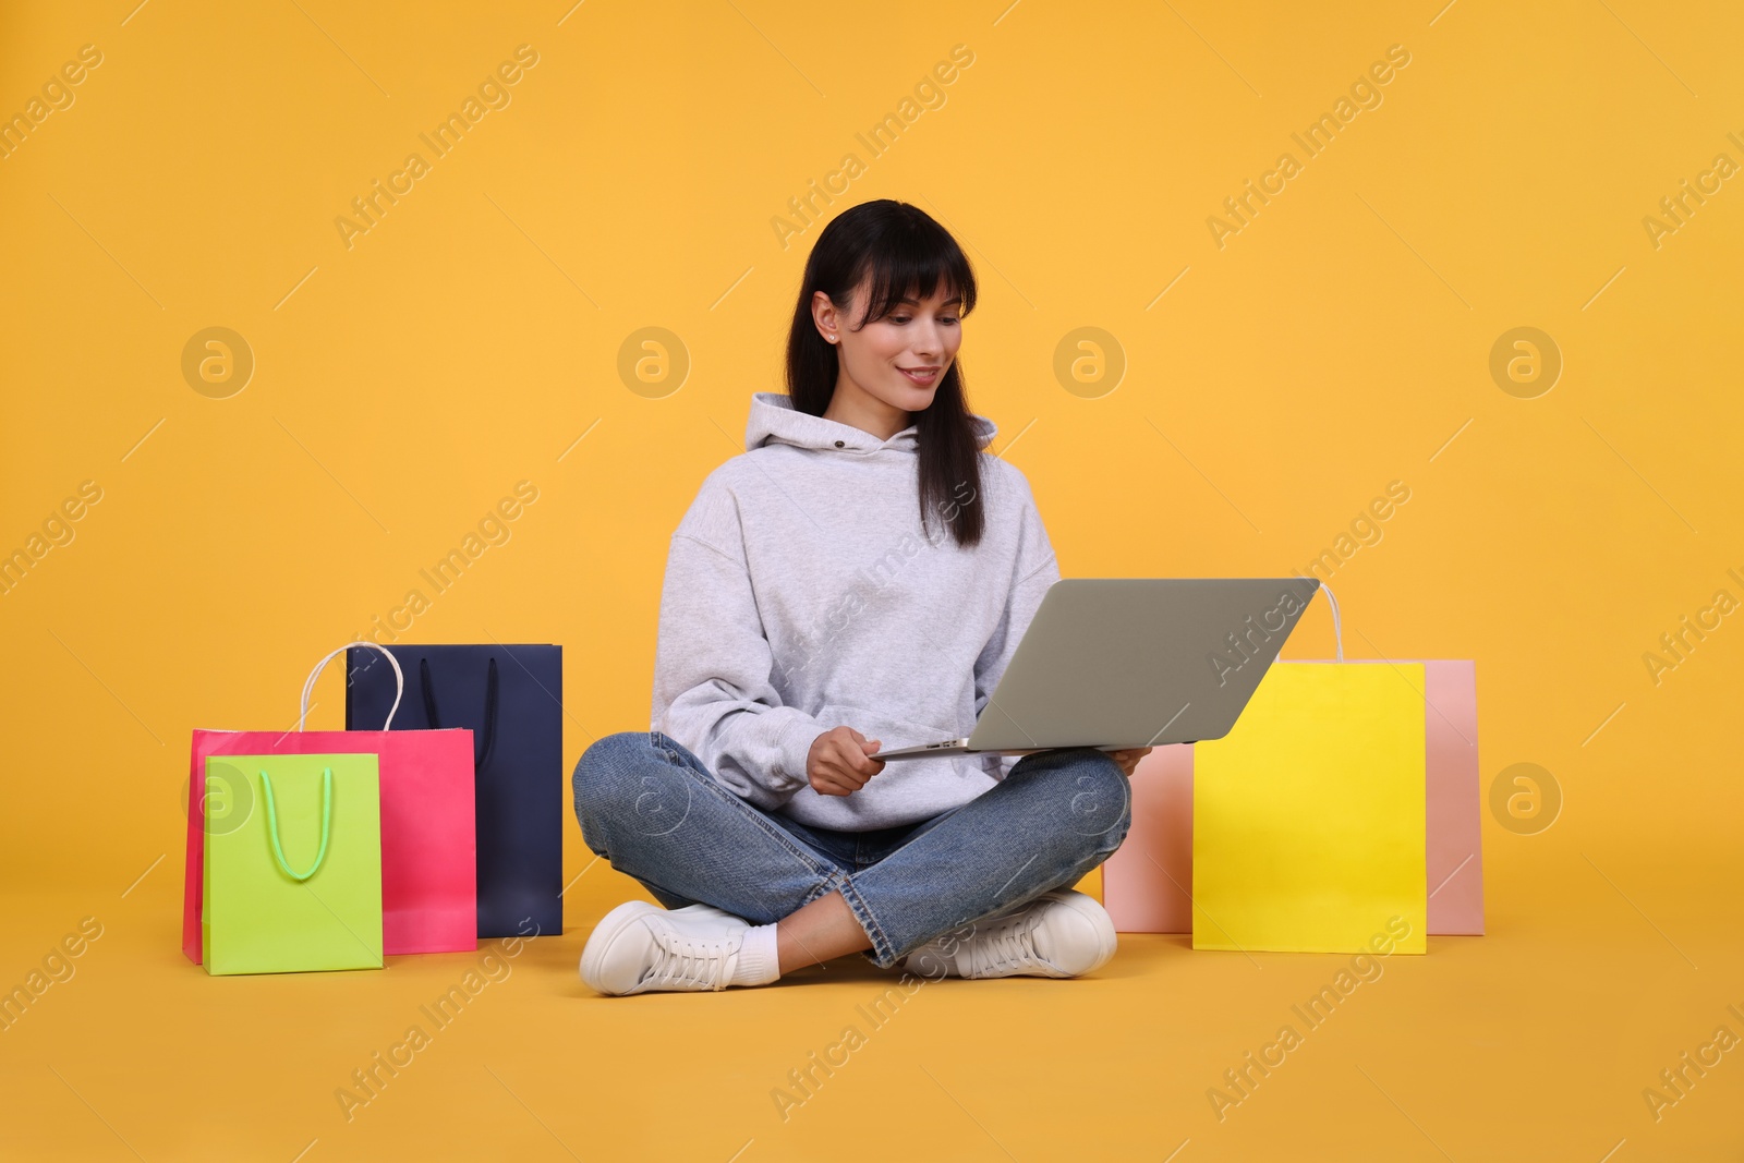
[[[1735,1053],[1660,1121],[1641,1090],[1721,1022],[1744,1036],[1725,1008],[1744,1010],[1744,629],[1720,617],[1659,682],[1643,654],[1716,591],[1744,598],[1744,192],[1720,183],[1657,246],[1643,220],[1718,153],[1744,162],[1741,35],[1732,5],[1638,0],[9,5],[0,115],[82,45],[101,65],[0,159],[0,553],[84,481],[101,500],[0,595],[0,985],[80,917],[105,936],[0,1032],[30,1111],[0,1133],[73,1158],[124,1158],[124,1139],[290,1160],[314,1139],[312,1161],[406,1142],[563,1158],[553,1139],[586,1154],[633,1132],[656,1158],[750,1139],[753,1160],[818,1158],[875,1116],[952,1158],[1184,1139],[1182,1163],[1441,1158],[1432,1142],[1735,1158]],[[509,103],[347,248],[335,218],[516,45],[537,63]],[[954,45],[973,63],[944,103],[870,155],[856,134]],[[1291,134],[1390,45],[1409,65],[1381,103],[1306,157]],[[783,246],[771,220],[848,152],[862,173],[825,213],[898,197],[968,248],[971,405],[1066,575],[1291,574],[1402,481],[1331,574],[1346,649],[1477,659],[1484,792],[1533,762],[1561,816],[1535,835],[1486,816],[1489,935],[1390,962],[1350,1003],[1366,1013],[1310,1036],[1317,1065],[1226,1123],[1203,1092],[1332,961],[1123,938],[1099,980],[942,983],[914,1003],[931,1018],[771,1123],[766,1092],[879,978],[593,999],[584,929],[638,891],[603,865],[499,1017],[446,1034],[368,1126],[337,1123],[328,1092],[415,1008],[394,990],[466,959],[246,983],[181,961],[190,729],[291,725],[314,659],[401,607],[518,481],[537,500],[401,640],[563,643],[570,762],[645,729],[668,535],[741,450],[750,394],[780,389],[818,223]],[[1219,248],[1207,220],[1282,152],[1301,173]],[[255,363],[221,399],[183,375],[213,326]],[[1514,384],[1531,398],[1491,377],[1519,326],[1563,359],[1549,391]],[[682,382],[621,375],[644,328],[671,333]],[[1100,373],[1062,378],[1062,343]],[[1331,650],[1310,612],[1285,654]],[[316,697],[314,724],[338,725],[340,678]],[[565,835],[574,877],[591,853],[572,814]]]

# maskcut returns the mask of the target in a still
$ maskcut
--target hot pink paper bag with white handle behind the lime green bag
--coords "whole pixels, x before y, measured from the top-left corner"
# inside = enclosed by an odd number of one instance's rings
[[[366,643],[368,645],[368,643]],[[181,952],[201,961],[201,900],[208,828],[241,830],[263,811],[255,785],[206,760],[234,755],[378,757],[382,847],[382,952],[436,954],[478,949],[473,839],[473,738],[469,731],[303,731],[309,697],[333,650],[303,682],[295,731],[195,731],[188,771],[188,849],[181,905]],[[398,666],[398,663],[396,663]],[[384,708],[391,725],[398,704]]]

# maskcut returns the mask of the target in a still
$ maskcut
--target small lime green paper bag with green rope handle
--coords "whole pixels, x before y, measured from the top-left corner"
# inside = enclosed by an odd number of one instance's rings
[[[206,971],[380,969],[377,757],[213,755],[206,778],[253,804],[208,816]]]

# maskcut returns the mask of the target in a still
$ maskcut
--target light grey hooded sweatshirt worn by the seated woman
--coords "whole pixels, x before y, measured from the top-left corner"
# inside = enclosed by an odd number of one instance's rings
[[[916,432],[889,439],[757,392],[746,452],[703,479],[671,535],[652,729],[759,807],[842,832],[928,820],[994,786],[1017,757],[891,760],[853,795],[806,778],[848,725],[882,748],[966,736],[1041,596],[1060,577],[1029,481],[985,452],[985,532],[961,549],[950,504],[923,532]]]

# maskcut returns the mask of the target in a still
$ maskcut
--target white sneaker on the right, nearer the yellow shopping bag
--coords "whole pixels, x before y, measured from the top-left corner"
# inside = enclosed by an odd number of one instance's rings
[[[902,959],[910,973],[966,978],[1078,976],[1114,956],[1107,910],[1074,889],[1043,893],[1025,905],[973,922],[968,936],[944,933]]]

